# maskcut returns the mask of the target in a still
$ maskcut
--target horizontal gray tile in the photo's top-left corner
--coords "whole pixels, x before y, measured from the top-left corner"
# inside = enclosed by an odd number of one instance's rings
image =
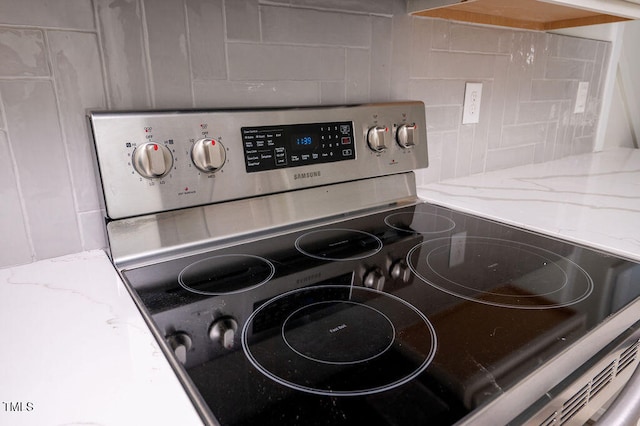
[[[95,29],[91,0],[3,0],[0,24]]]

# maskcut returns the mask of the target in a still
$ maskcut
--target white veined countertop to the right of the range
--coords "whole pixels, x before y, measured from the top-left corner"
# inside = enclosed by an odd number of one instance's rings
[[[640,150],[619,148],[450,179],[418,195],[640,261]]]

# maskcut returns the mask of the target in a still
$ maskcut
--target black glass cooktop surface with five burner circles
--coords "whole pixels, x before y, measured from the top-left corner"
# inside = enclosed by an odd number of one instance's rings
[[[637,267],[425,203],[123,274],[222,425],[448,425],[637,297]]]

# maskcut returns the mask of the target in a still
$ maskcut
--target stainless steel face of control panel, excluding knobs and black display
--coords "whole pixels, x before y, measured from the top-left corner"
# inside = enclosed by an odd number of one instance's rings
[[[408,172],[428,165],[422,102],[252,111],[95,112],[89,118],[111,219]],[[337,121],[353,123],[355,159],[246,171],[242,127]],[[413,123],[415,146],[402,148],[393,140],[394,133],[400,125]],[[367,131],[374,126],[388,128],[384,152],[367,146]],[[215,139],[226,150],[226,162],[215,173],[201,172],[191,161],[191,147],[204,137]],[[162,178],[143,178],[134,170],[133,152],[146,142],[162,144],[171,152],[172,168]]]

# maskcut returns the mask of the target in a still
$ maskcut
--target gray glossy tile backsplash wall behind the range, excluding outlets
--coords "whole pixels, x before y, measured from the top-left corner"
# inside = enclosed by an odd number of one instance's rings
[[[403,0],[5,0],[0,267],[104,247],[87,110],[418,99],[427,183],[591,151],[609,50]],[[479,124],[461,124],[466,81]]]

